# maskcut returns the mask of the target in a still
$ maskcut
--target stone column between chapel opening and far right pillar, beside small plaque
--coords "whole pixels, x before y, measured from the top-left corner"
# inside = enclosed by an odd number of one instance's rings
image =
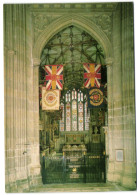
[[[123,149],[121,82],[121,6],[113,13],[113,64],[108,70],[108,181],[121,182],[123,163],[116,161],[116,150]]]

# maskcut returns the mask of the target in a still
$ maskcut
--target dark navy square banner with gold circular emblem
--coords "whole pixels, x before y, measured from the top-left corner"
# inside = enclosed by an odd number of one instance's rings
[[[88,108],[102,108],[104,107],[104,88],[90,88],[87,92]]]

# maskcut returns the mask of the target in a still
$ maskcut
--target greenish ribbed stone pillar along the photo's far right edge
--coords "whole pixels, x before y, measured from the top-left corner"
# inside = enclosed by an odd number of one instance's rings
[[[135,188],[135,77],[133,3],[122,3],[122,94],[124,163],[122,184]]]

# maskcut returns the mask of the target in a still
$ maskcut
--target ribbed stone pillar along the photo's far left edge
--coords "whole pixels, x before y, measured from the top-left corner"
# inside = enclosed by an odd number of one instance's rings
[[[4,5],[4,13],[6,191],[20,192],[28,189],[24,5]]]

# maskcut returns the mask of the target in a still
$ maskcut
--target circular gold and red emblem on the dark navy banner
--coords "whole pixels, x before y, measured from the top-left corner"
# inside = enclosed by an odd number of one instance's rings
[[[93,106],[99,106],[103,102],[103,92],[100,89],[92,89],[89,92],[90,104]]]

